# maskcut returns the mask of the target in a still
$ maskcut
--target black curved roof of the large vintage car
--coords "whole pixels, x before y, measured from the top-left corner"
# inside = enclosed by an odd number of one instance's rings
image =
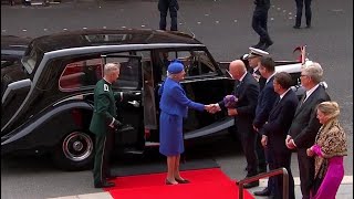
[[[194,36],[183,32],[160,30],[80,30],[44,35],[32,42],[44,53],[61,49],[98,45],[185,43],[201,44]]]

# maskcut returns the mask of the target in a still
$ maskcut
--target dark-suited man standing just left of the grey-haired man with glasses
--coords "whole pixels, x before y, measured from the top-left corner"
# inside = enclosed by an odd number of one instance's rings
[[[262,146],[272,157],[272,169],[284,167],[289,174],[289,199],[294,199],[294,179],[291,172],[291,150],[287,148],[284,139],[298,106],[296,94],[290,88],[291,75],[280,72],[274,75],[273,88],[278,94],[277,103],[271,109],[267,124],[261,128]],[[273,198],[282,198],[282,176],[272,178],[274,187],[271,190]]]

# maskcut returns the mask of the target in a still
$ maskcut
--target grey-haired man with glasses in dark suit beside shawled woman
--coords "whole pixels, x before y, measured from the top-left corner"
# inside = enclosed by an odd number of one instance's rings
[[[298,149],[299,171],[302,198],[310,198],[310,189],[314,177],[314,159],[308,157],[306,148],[310,148],[321,127],[316,118],[317,104],[330,101],[325,88],[320,85],[323,70],[319,63],[312,62],[301,71],[301,84],[306,90],[300,101],[294,119],[289,129],[285,144],[290,149]]]

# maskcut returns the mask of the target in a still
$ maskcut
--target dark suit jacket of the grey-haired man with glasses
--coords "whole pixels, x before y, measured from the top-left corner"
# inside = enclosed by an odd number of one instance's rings
[[[330,100],[325,88],[320,85],[303,104],[301,102],[299,103],[294,119],[288,133],[294,139],[298,148],[309,148],[313,145],[321,127],[316,118],[316,106]]]

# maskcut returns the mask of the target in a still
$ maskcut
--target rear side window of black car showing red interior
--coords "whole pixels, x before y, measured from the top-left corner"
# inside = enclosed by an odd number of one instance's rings
[[[59,78],[59,87],[62,91],[80,90],[94,86],[103,76],[101,57],[82,60],[66,64]]]

